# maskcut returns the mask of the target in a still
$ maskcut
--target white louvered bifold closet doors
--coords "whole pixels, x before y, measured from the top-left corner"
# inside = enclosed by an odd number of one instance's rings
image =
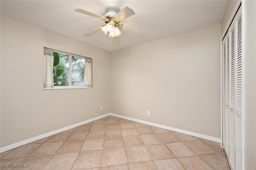
[[[222,40],[223,147],[230,167],[242,169],[242,16],[238,10]]]

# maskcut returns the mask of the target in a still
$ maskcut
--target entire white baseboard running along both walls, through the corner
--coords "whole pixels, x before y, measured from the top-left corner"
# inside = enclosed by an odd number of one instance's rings
[[[151,123],[151,122],[147,122],[147,121],[142,121],[142,120],[139,120],[139,119],[134,119],[134,118],[130,118],[130,117],[122,116],[122,115],[117,115],[117,114],[114,114],[114,113],[107,113],[105,115],[101,115],[101,116],[98,116],[98,117],[95,117],[95,118],[92,118],[92,119],[89,119],[89,120],[86,120],[86,121],[82,121],[80,123],[76,123],[76,124],[70,125],[68,127],[60,128],[60,129],[54,130],[52,132],[41,134],[41,135],[35,136],[33,138],[29,138],[29,139],[26,139],[26,140],[23,140],[23,141],[14,143],[14,144],[10,144],[8,146],[4,146],[4,147],[0,148],[0,153],[5,152],[7,150],[17,148],[17,147],[22,146],[24,144],[28,144],[30,142],[34,142],[36,140],[40,140],[42,138],[46,138],[46,137],[51,136],[53,134],[63,132],[65,130],[68,130],[68,129],[71,129],[71,128],[74,128],[74,127],[78,127],[80,125],[83,125],[83,124],[86,124],[86,123],[89,123],[89,122],[92,122],[92,121],[96,121],[98,119],[101,119],[103,117],[110,116],[110,115],[115,116],[115,117],[119,117],[119,118],[123,118],[123,119],[127,119],[127,120],[130,120],[130,121],[138,122],[138,123],[143,123],[143,124],[146,124],[146,125],[151,125],[151,126],[154,126],[154,127],[159,127],[159,128],[164,128],[164,129],[167,129],[167,130],[172,130],[174,132],[179,132],[179,133],[188,134],[188,135],[191,135],[191,136],[196,136],[198,138],[212,140],[214,142],[220,142],[220,138],[207,136],[207,135],[199,134],[199,133],[195,133],[195,132],[190,132],[190,131],[182,130],[182,129],[178,129],[178,128],[168,127],[168,126],[164,126],[164,125],[159,125],[159,124]]]

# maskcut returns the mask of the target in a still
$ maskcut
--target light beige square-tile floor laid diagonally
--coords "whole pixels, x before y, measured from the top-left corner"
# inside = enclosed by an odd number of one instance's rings
[[[113,116],[3,152],[0,162],[31,170],[230,169],[217,142]]]

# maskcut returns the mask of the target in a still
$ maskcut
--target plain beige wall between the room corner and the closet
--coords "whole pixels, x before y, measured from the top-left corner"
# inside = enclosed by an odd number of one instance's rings
[[[112,52],[110,89],[111,113],[220,138],[220,23]]]

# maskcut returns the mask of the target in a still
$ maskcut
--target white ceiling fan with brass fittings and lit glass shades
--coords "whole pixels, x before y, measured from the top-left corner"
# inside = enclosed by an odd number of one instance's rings
[[[80,8],[75,9],[75,11],[80,12],[82,14],[86,14],[88,16],[92,16],[94,18],[98,18],[105,22],[105,24],[98,26],[98,27],[94,28],[93,30],[84,34],[84,36],[86,36],[86,37],[91,36],[92,34],[98,32],[100,30],[102,30],[102,32],[106,35],[109,32],[108,36],[110,36],[110,37],[117,37],[117,36],[120,36],[120,34],[121,34],[121,32],[118,28],[120,28],[124,31],[130,32],[131,34],[134,34],[135,36],[142,37],[145,35],[144,32],[137,30],[136,28],[133,28],[126,24],[121,23],[122,20],[135,14],[134,11],[127,6],[118,13],[116,13],[115,10],[110,10],[109,12],[107,12],[105,14],[105,17],[99,16],[97,14],[93,14],[91,12],[82,10]]]

